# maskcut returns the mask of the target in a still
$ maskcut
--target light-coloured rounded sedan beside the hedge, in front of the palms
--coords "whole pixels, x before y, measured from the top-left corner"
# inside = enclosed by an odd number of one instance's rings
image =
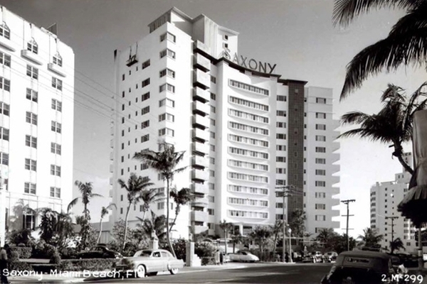
[[[134,256],[125,257],[115,263],[115,270],[120,273],[134,273],[138,278],[145,275],[157,275],[158,272],[169,271],[172,275],[184,267],[182,259],[176,259],[164,249],[144,249]]]

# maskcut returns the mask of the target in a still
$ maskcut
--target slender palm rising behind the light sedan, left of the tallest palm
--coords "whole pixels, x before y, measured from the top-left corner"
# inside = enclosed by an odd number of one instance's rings
[[[123,239],[122,251],[125,249],[126,237],[127,237],[127,219],[129,218],[130,207],[136,205],[139,200],[141,200],[141,195],[144,190],[152,186],[153,183],[149,182],[149,179],[142,178],[141,176],[137,177],[135,173],[130,174],[129,180],[127,183],[124,180],[118,180],[120,187],[125,188],[127,192],[127,209],[125,217],[125,238]]]

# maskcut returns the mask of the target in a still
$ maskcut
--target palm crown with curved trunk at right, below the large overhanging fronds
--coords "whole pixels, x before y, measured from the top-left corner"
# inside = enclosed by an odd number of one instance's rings
[[[401,87],[389,84],[381,96],[381,102],[384,104],[381,111],[372,115],[360,111],[344,114],[341,118],[342,124],[361,124],[361,126],[342,133],[338,138],[360,136],[372,141],[391,143],[394,147],[393,155],[399,159],[408,173],[413,174],[413,169],[403,158],[402,143],[411,141],[414,112],[426,109],[427,99],[418,102],[420,96],[426,95],[422,91],[426,86],[426,83],[422,84],[411,97],[407,98]]]

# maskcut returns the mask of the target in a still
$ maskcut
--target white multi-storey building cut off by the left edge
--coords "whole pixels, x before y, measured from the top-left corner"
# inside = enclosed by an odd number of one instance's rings
[[[36,209],[60,212],[72,199],[74,53],[54,33],[0,9],[4,241],[4,229],[36,229]]]

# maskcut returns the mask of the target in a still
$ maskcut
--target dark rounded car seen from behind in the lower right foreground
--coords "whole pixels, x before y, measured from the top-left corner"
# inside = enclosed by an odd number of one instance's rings
[[[339,253],[330,273],[321,284],[396,283],[391,256],[376,251]]]

